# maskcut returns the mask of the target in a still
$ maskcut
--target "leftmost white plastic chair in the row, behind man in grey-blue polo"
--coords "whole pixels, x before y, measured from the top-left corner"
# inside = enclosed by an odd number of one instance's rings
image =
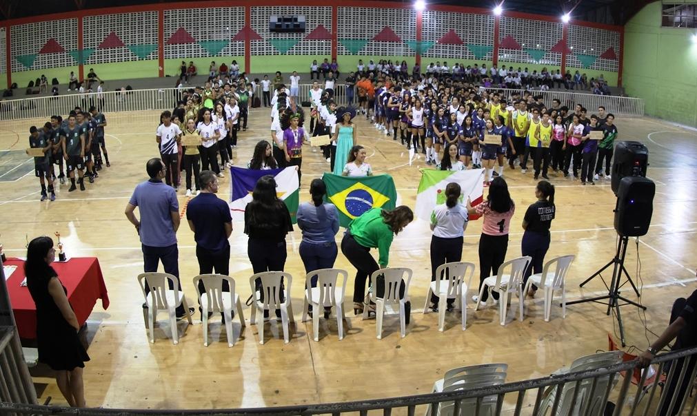
[[[169,273],[148,272],[138,275],[138,283],[143,291],[145,303],[148,306],[148,329],[150,330],[150,342],[155,344],[155,318],[158,311],[169,313],[169,323],[171,324],[172,342],[179,344],[179,332],[176,327],[176,308],[179,305],[184,307],[186,318],[189,325],[192,325],[189,305],[186,303],[184,293],[178,290],[179,279]],[[146,293],[146,285],[150,292]],[[169,286],[174,289],[169,288]]]

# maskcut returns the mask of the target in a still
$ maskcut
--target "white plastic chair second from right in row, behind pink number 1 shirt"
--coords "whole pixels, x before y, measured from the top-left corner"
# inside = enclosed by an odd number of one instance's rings
[[[531,260],[532,258],[530,256],[523,256],[507,261],[500,265],[496,276],[489,276],[484,279],[484,281],[482,281],[482,287],[480,288],[479,298],[477,298],[475,311],[479,309],[479,305],[482,302],[484,289],[488,288],[489,298],[491,298],[491,292],[497,291],[499,293],[498,314],[500,316],[500,323],[501,325],[506,325],[508,300],[510,299],[511,293],[517,293],[520,309],[519,320],[523,321],[523,274],[526,268],[528,268],[528,264],[530,264]],[[511,268],[510,274],[505,275],[504,272],[509,266]]]

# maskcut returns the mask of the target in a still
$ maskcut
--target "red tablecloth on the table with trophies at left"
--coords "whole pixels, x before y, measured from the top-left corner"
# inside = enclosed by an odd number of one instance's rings
[[[36,339],[36,305],[31,299],[29,288],[20,286],[24,280],[24,261],[7,259],[4,265],[17,266],[6,284],[20,338]],[[98,299],[102,300],[104,309],[109,307],[107,286],[96,257],[73,257],[66,263],[56,261],[51,265],[68,290],[68,300],[81,326],[87,321]]]

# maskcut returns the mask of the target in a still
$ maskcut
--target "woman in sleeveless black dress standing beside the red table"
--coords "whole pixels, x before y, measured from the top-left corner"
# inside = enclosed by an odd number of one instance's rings
[[[34,238],[26,249],[26,286],[36,304],[36,338],[39,362],[56,371],[56,383],[72,407],[84,408],[82,369],[89,356],[77,332],[80,325],[51,263],[56,256],[53,240]]]

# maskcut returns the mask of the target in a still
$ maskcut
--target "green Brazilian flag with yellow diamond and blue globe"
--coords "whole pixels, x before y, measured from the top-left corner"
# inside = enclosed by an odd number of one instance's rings
[[[397,206],[395,181],[390,175],[349,178],[324,174],[322,180],[327,185],[325,200],[339,209],[339,223],[343,227],[371,208],[391,210]]]

